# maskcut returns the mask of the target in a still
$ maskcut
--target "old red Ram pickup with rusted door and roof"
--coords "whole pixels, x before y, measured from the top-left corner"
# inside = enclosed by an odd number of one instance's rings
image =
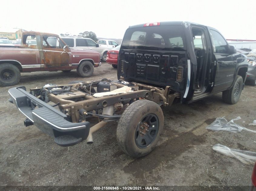
[[[28,40],[36,40],[29,44]],[[81,77],[90,77],[101,65],[100,53],[72,49],[56,34],[24,32],[18,48],[0,48],[0,86],[18,84],[21,72],[76,69]]]

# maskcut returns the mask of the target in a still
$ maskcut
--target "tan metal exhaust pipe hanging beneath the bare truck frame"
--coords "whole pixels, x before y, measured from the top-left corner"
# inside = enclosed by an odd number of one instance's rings
[[[108,106],[108,107],[104,107],[103,108],[103,111],[102,111],[102,115],[113,115],[114,113],[114,107],[115,105],[111,105],[111,106]],[[86,142],[87,144],[92,144],[93,143],[93,139],[92,139],[92,133],[97,131],[98,129],[100,129],[101,127],[105,126],[108,122],[107,121],[101,121],[99,123],[97,123],[96,125],[92,126],[90,128],[90,131],[89,131],[89,135],[86,139]]]

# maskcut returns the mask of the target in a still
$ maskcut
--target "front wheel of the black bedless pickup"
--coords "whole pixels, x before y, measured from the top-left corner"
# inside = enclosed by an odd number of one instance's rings
[[[237,75],[232,88],[222,92],[222,100],[225,103],[229,103],[229,104],[237,103],[241,95],[243,85],[244,85],[243,78]]]

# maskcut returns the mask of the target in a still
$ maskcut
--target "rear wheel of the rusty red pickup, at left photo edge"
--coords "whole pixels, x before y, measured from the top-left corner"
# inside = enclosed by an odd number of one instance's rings
[[[12,86],[20,81],[20,71],[12,64],[0,64],[0,86]]]

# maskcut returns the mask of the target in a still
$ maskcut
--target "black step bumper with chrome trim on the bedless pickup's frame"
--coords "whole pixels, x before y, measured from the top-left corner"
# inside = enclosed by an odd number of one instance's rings
[[[10,102],[27,117],[24,124],[34,124],[42,132],[52,136],[58,145],[75,145],[88,137],[89,122],[71,123],[68,116],[26,92],[24,86],[11,88],[8,93]]]

